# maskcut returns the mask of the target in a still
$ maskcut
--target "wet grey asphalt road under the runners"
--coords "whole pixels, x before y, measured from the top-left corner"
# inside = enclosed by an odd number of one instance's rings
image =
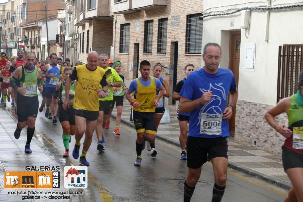
[[[60,123],[53,125],[45,118],[45,110],[39,113],[36,130],[41,133],[39,141],[56,156],[62,165],[76,164],[72,155],[62,158],[64,146]],[[113,134],[111,128],[105,130],[105,151],[96,149],[97,137],[94,134],[87,154],[90,162],[89,190],[81,201],[183,201],[183,183],[187,175],[186,161],[179,160],[179,148],[156,140],[157,157],[151,157],[145,149],[141,167],[134,167],[136,158],[135,130],[122,125],[121,136]],[[84,138],[82,139],[83,143]],[[51,144],[52,145],[51,145]],[[72,138],[72,151],[75,139]],[[82,151],[82,146],[80,151]],[[211,164],[203,166],[203,172],[191,201],[211,201],[213,188]],[[251,178],[232,169],[228,171],[226,191],[222,201],[283,201],[287,191]],[[78,199],[76,199],[77,201]]]

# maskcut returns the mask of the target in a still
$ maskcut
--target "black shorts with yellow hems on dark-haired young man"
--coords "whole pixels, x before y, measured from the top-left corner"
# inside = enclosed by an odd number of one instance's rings
[[[145,132],[156,135],[155,112],[133,111],[133,120],[137,133]]]

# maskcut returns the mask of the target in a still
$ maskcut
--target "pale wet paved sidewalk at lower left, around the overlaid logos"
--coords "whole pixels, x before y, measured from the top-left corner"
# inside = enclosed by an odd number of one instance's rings
[[[24,146],[26,143],[26,130],[22,130],[21,136],[18,140],[14,137],[16,129],[16,119],[12,117],[8,110],[0,107],[0,201],[21,201],[21,194],[11,195],[9,191],[43,191],[40,195],[43,201],[51,201],[44,199],[51,196],[46,191],[67,191],[64,188],[64,179],[62,170],[64,163],[60,162],[60,158],[55,150],[51,150],[52,146],[39,142],[37,138],[42,138],[40,134],[35,132],[35,136],[31,142],[32,154],[24,153]],[[62,157],[62,156],[61,156]],[[70,164],[69,164],[70,165]],[[60,188],[59,189],[4,189],[4,172],[5,171],[26,171],[26,166],[60,166]],[[45,191],[45,192],[44,192]],[[29,194],[30,196],[36,196]],[[56,194],[55,194],[56,195]],[[54,196],[54,194],[53,194]],[[56,195],[59,196],[59,195]],[[24,201],[35,201],[34,199],[25,199]],[[71,196],[69,200],[58,201],[80,201],[79,196]]]

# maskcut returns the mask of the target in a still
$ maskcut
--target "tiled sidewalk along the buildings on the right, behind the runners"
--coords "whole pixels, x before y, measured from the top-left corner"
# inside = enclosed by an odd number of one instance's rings
[[[180,128],[176,117],[177,111],[173,105],[169,105],[168,108],[170,112],[170,123],[160,123],[156,138],[180,147]],[[130,113],[131,106],[127,99],[124,98],[121,122],[130,127],[134,127],[133,122],[129,121]],[[116,115],[115,107],[112,113],[112,118],[115,119]],[[267,153],[251,146],[238,144],[233,141],[232,137],[228,138],[228,145],[228,166],[230,168],[258,177],[284,189],[291,188],[291,182],[283,169],[281,156]]]

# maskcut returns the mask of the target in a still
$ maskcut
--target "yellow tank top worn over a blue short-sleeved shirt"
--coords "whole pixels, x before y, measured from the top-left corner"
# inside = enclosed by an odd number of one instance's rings
[[[154,99],[156,98],[156,83],[155,78],[150,77],[151,82],[149,86],[144,86],[141,84],[138,78],[136,78],[137,82],[137,93],[136,99],[134,101],[138,101],[140,106],[137,108],[133,107],[133,110],[138,112],[155,112],[155,106],[153,105]]]

